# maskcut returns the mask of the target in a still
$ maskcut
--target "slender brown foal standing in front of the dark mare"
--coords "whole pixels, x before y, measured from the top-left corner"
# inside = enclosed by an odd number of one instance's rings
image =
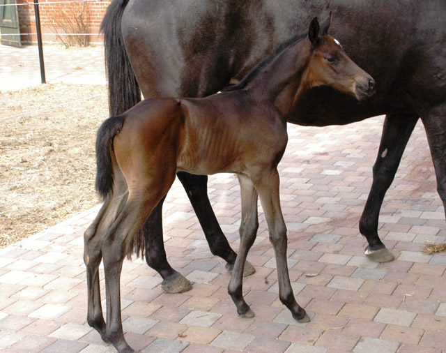
[[[139,241],[137,232],[167,194],[177,170],[193,174],[233,172],[238,176],[240,248],[228,287],[238,314],[254,316],[243,299],[242,281],[247,253],[259,227],[259,195],[275,250],[279,298],[295,320],[309,321],[295,301],[286,264],[286,227],[277,172],[287,142],[286,121],[302,92],[310,87],[327,84],[358,100],[374,91],[370,75],[328,36],[329,24],[320,29],[314,18],[307,36],[281,45],[275,55],[259,63],[230,91],[207,98],[144,100],[100,127],[96,188],[105,202],[84,235],[87,320],[119,352],[132,352],[121,324],[123,259]],[[101,257],[107,325],[100,304]]]

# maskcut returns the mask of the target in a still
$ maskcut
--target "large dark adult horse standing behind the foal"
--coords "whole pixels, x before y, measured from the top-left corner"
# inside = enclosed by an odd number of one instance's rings
[[[328,10],[335,15],[332,32],[352,59],[374,76],[377,93],[367,102],[357,103],[326,87],[312,89],[302,96],[289,121],[327,126],[387,114],[360,232],[369,243],[366,254],[372,260],[389,261],[392,254],[378,236],[380,206],[420,117],[431,148],[438,193],[446,204],[444,0],[114,0],[102,23],[111,112],[119,114],[139,101],[134,75],[145,98],[215,93],[231,79],[243,77],[277,43],[294,33],[296,24],[302,30],[314,13]],[[236,254],[210,208],[206,177],[185,173],[178,177],[211,251],[233,265]],[[164,278],[165,290],[187,290],[187,280],[169,266],[164,253],[161,206],[144,227],[146,260]]]

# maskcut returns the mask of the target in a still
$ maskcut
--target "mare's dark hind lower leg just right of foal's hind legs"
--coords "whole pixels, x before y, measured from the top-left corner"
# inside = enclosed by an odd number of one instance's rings
[[[161,287],[167,293],[183,293],[192,290],[190,281],[181,273],[175,271],[167,262],[164,241],[162,239],[162,204],[166,197],[153,209],[142,228],[146,242],[146,262],[148,266],[160,273]]]

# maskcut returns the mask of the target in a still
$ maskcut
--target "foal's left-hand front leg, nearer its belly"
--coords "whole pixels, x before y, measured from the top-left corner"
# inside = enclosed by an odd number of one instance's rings
[[[237,313],[242,317],[254,317],[254,313],[243,299],[243,269],[246,257],[256,239],[259,219],[257,216],[257,191],[251,179],[238,175],[242,199],[242,221],[240,223],[240,246],[234,264],[228,293],[236,304]]]

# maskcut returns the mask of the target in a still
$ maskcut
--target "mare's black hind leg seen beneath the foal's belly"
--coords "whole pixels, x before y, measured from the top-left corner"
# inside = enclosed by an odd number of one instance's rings
[[[176,174],[186,190],[190,203],[194,208],[195,214],[203,229],[206,240],[209,243],[210,252],[213,255],[222,257],[227,262],[226,269],[232,271],[236,262],[237,254],[232,250],[231,246],[222,232],[222,228],[218,224],[212,206],[210,206],[208,197],[208,176],[194,175],[185,172]],[[252,264],[245,264],[245,272],[243,276],[252,275],[256,270]]]

